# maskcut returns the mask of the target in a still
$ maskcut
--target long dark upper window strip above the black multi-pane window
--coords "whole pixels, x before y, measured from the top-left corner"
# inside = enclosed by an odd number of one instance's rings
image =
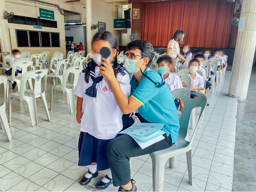
[[[23,25],[40,25],[42,27],[57,28],[57,21],[37,19],[33,17],[23,17],[19,15],[14,15],[11,19],[8,19],[8,23],[16,23]]]

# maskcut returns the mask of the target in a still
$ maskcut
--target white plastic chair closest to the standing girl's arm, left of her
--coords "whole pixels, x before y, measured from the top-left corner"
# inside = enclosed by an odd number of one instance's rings
[[[60,90],[60,91],[65,91],[67,93],[67,100],[68,100],[68,105],[70,104],[70,110],[71,114],[76,113],[76,103],[75,103],[75,95],[74,95],[74,89],[76,87],[80,72],[83,70],[83,66],[78,66],[78,67],[70,67],[66,70],[64,77],[63,77],[63,82],[60,85],[55,85],[52,86],[52,93],[51,93],[51,107],[50,110],[52,110],[52,97],[53,97],[53,90]],[[68,76],[69,74],[72,73],[74,74],[74,81],[73,84],[68,84]]]

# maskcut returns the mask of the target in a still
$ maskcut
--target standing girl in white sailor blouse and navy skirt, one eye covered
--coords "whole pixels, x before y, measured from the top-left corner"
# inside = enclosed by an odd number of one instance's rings
[[[87,185],[92,178],[98,176],[98,171],[110,167],[106,154],[107,144],[123,128],[123,114],[107,81],[100,75],[99,69],[104,60],[110,60],[122,91],[127,97],[130,95],[130,76],[122,63],[118,66],[117,49],[117,40],[113,33],[97,32],[92,41],[93,59],[84,65],[74,90],[77,95],[76,120],[81,124],[78,165],[90,165],[89,170],[80,180],[81,185]],[[111,183],[112,175],[109,170],[108,174],[96,184],[96,188],[105,189]]]

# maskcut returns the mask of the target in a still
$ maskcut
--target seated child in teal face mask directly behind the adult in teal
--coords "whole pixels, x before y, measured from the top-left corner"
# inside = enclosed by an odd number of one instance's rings
[[[174,67],[172,63],[173,61],[171,57],[163,55],[157,59],[156,69],[157,72],[163,76],[164,81],[171,92],[175,89],[183,89],[179,76],[173,74]],[[174,100],[174,103],[177,109],[180,106],[180,111],[183,110],[184,105],[181,100]]]

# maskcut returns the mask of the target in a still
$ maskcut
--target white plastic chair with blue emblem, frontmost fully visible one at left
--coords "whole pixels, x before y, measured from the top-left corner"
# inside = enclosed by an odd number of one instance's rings
[[[48,69],[39,69],[28,71],[23,74],[20,84],[20,92],[10,93],[9,94],[9,123],[11,123],[11,111],[12,111],[12,98],[25,100],[28,102],[28,109],[32,121],[32,126],[38,126],[37,121],[37,108],[36,108],[36,98],[41,97],[44,104],[44,110],[47,116],[48,121],[50,122],[50,115],[48,111],[48,106],[45,98],[46,91],[46,75]],[[35,81],[34,89],[26,90],[26,83],[28,78],[33,78]],[[42,91],[42,79],[44,89]]]

